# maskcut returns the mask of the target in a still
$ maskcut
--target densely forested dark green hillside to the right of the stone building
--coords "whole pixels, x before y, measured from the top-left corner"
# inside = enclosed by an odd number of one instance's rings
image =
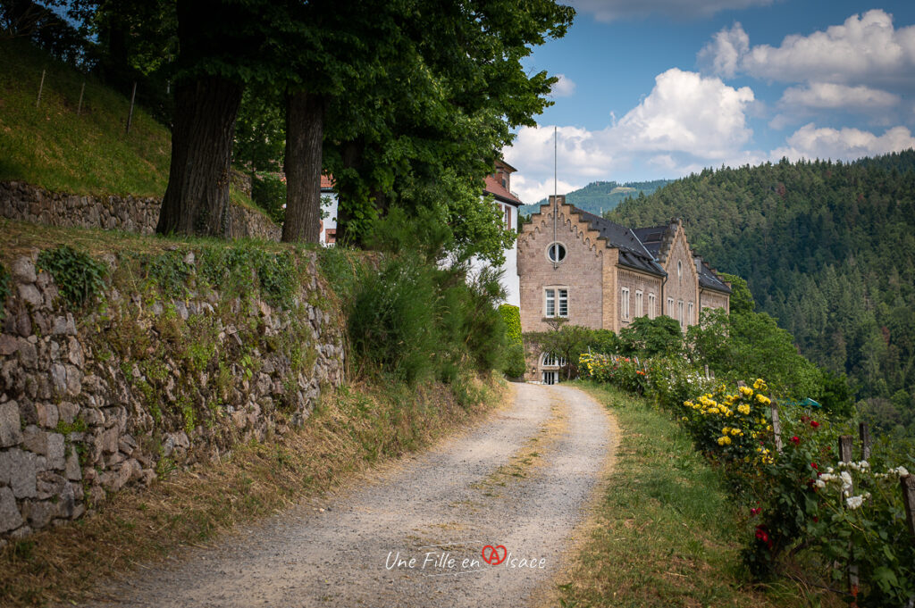
[[[607,214],[673,217],[807,357],[845,372],[885,432],[915,432],[915,152],[706,169]]]

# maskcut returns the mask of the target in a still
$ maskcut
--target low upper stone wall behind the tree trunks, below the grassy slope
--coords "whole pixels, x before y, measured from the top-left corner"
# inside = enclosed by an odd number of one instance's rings
[[[25,182],[0,182],[0,216],[47,226],[121,229],[152,234],[162,199],[94,197],[51,192]],[[282,229],[263,213],[232,205],[231,237],[280,240]]]

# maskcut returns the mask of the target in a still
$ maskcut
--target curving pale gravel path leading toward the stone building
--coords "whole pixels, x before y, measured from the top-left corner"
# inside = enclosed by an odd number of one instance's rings
[[[473,432],[137,571],[97,605],[529,605],[563,565],[610,444],[608,414],[584,392],[518,385],[513,407]],[[487,545],[504,561],[483,560]]]

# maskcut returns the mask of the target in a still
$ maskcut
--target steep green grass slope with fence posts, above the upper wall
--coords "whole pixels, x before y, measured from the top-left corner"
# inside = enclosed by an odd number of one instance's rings
[[[170,135],[139,107],[124,134],[129,108],[124,96],[26,42],[0,40],[0,180],[76,194],[161,197]]]

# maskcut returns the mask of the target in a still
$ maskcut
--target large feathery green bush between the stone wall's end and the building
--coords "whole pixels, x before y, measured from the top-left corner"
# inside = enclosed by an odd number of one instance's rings
[[[343,294],[353,360],[364,371],[408,383],[453,383],[468,368],[501,368],[499,274],[484,269],[467,280],[466,264],[439,264],[447,243],[424,223],[392,209],[371,236],[384,250],[377,269],[348,270],[350,260],[342,252],[322,256],[322,267],[349,277],[343,279]]]

